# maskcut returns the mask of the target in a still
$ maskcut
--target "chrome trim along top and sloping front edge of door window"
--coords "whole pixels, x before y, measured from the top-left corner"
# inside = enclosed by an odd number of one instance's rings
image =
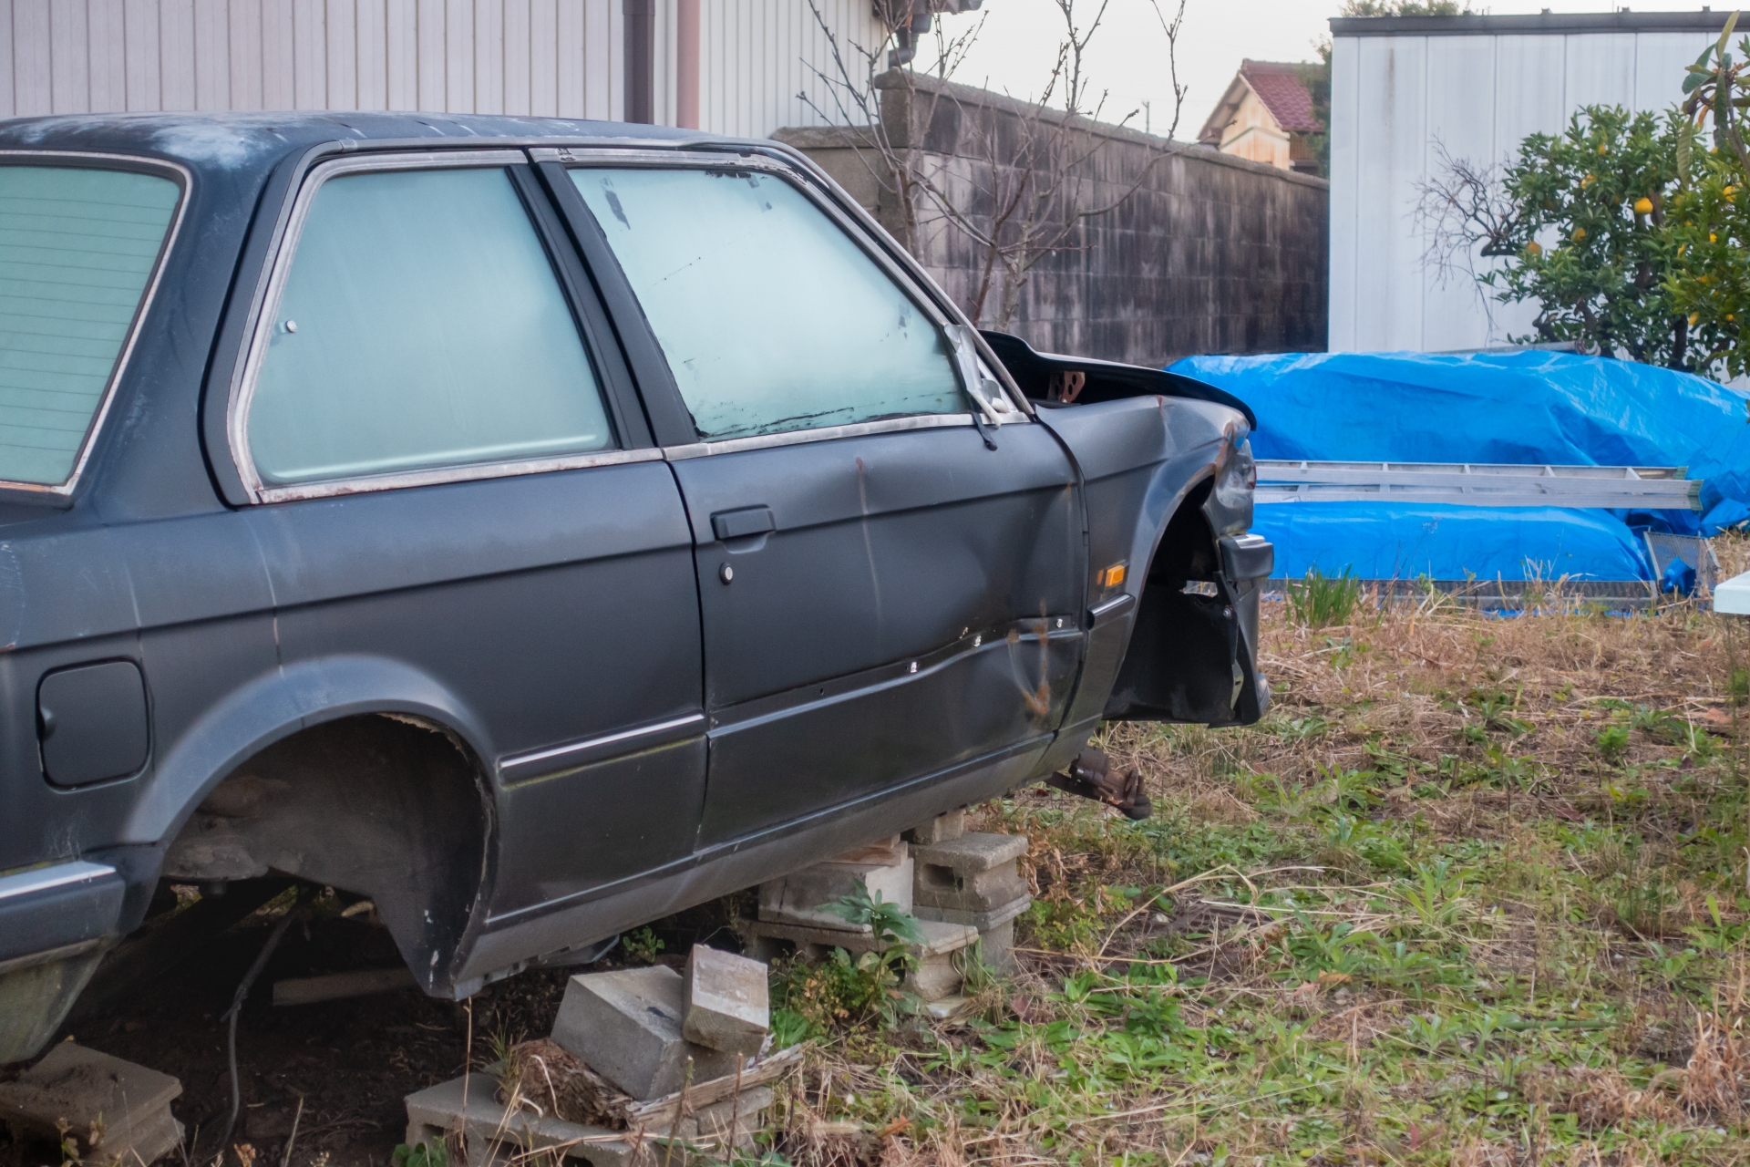
[[[861,222],[845,213],[833,198],[828,196],[816,182],[808,182],[812,175],[798,171],[794,166],[770,157],[766,154],[742,154],[742,152],[721,152],[721,150],[653,150],[648,145],[626,145],[625,149],[614,147],[590,147],[590,149],[532,149],[528,157],[536,163],[560,163],[570,170],[593,170],[593,168],[639,168],[639,170],[758,170],[768,173],[775,178],[782,178],[791,187],[802,192],[817,210],[821,210],[833,224],[845,233],[845,236],[861,250],[877,268],[892,280],[900,292],[912,301],[929,320],[936,325],[936,332],[942,336],[942,343],[948,348],[948,364],[954,367],[956,376],[961,381],[961,392],[984,413],[985,420],[992,427],[1012,425],[1020,420],[1031,420],[1024,408],[1008,401],[1010,409],[996,409],[985,397],[989,392],[982,378],[978,376],[976,364],[976,346],[961,338],[959,329],[968,329],[968,325],[956,320],[950,313],[942,310],[936,297],[929,294],[929,289],[919,285],[917,278],[906,271],[901,264],[894,262],[892,255],[887,254],[875,240],[868,236],[868,231]],[[1008,399],[1006,387],[992,380],[998,392]],[[970,425],[971,422],[968,422]],[[700,443],[700,444],[719,444],[719,443]]]

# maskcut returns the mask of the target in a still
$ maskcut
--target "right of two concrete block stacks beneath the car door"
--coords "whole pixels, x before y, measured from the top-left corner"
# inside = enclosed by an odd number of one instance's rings
[[[1015,919],[1032,905],[1017,866],[1027,854],[1027,836],[968,833],[961,810],[908,835],[912,913],[976,929],[984,962],[999,973],[1015,971]]]

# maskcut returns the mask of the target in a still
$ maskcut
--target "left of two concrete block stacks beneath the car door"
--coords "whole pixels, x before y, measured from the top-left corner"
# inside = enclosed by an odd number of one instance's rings
[[[858,889],[912,912],[914,864],[903,838],[894,835],[761,884],[760,919],[746,926],[749,950],[766,961],[786,950],[805,961],[819,961],[833,948],[852,955],[873,952],[878,945],[868,924],[856,926],[826,910]],[[978,941],[978,929],[947,920],[920,924],[924,943],[908,945],[914,968],[901,989],[926,1003],[948,1003],[964,982],[956,961],[964,961],[962,954]]]

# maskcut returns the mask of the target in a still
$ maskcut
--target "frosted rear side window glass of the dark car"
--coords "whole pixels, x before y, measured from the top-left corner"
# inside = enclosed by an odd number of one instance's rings
[[[247,415],[268,485],[612,444],[576,320],[500,168],[329,178],[273,313]]]

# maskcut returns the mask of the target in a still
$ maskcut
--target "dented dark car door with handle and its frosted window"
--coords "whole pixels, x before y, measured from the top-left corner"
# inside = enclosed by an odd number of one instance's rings
[[[973,425],[954,325],[789,168],[621,157],[556,187],[635,296],[623,332],[660,348],[646,401],[688,418],[665,453],[704,614],[700,845],[959,770],[1018,780],[1080,660],[1066,453],[1006,401]]]

